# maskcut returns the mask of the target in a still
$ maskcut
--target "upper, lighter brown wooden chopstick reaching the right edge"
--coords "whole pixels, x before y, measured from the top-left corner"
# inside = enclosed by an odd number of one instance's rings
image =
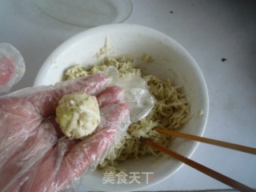
[[[211,138],[202,138],[199,136],[195,136],[192,134],[182,134],[179,133],[177,131],[173,131],[173,130],[164,130],[162,128],[159,127],[155,127],[154,130],[157,130],[159,133],[161,134],[169,134],[175,137],[179,137],[179,138],[187,138],[190,140],[194,140],[194,141],[198,141],[198,142],[205,142],[214,146],[222,146],[222,147],[226,147],[232,150],[239,150],[248,154],[256,154],[256,148],[250,147],[250,146],[241,146],[238,144],[234,144],[231,142],[222,142],[222,141],[218,141],[215,139],[211,139]]]

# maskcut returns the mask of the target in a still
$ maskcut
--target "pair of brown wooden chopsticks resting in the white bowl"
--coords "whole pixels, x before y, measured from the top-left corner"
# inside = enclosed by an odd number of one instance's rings
[[[222,141],[218,141],[218,140],[214,140],[211,138],[202,138],[202,137],[198,137],[195,135],[191,135],[191,134],[182,134],[182,133],[178,133],[176,131],[172,131],[172,130],[164,130],[161,128],[154,128],[154,130],[157,130],[158,133],[161,134],[169,134],[171,136],[175,136],[175,137],[179,137],[179,138],[187,138],[190,140],[194,140],[194,141],[198,141],[198,142],[205,142],[211,145],[215,145],[215,146],[222,146],[222,147],[226,147],[232,150],[239,150],[245,153],[249,153],[249,154],[256,154],[256,149],[249,147],[249,146],[241,146],[238,144],[234,144],[234,143],[230,143],[230,142],[222,142]],[[153,142],[150,139],[146,139],[146,142],[148,144],[150,144],[150,146],[154,146],[154,148],[161,150],[163,153],[165,154],[169,154],[171,157],[178,159],[181,162],[184,162],[186,165],[193,167],[196,170],[201,171],[204,174],[209,175],[212,178],[217,179],[219,182],[223,182],[228,186],[231,186],[232,188],[236,189],[236,190],[240,190],[240,191],[256,191],[252,188],[250,188],[249,186],[245,186],[244,184],[242,184],[241,182],[237,182],[232,178],[228,178],[223,174],[218,173],[215,170],[211,170],[210,168],[203,166],[202,164],[198,163],[198,162],[194,162],[193,160],[191,160],[190,158],[186,158],[184,156],[182,156],[181,154],[177,154],[172,150],[167,149],[164,146],[159,145],[156,142]]]

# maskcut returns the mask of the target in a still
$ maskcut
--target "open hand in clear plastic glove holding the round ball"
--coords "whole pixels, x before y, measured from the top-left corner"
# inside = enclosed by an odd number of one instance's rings
[[[0,98],[0,191],[59,191],[98,164],[130,123],[122,90],[104,90],[107,82],[95,74]],[[96,133],[70,141],[54,113],[62,96],[78,91],[96,95],[102,123]]]

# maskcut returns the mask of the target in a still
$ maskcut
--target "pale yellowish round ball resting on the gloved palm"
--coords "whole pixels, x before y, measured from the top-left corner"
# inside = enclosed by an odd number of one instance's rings
[[[94,132],[100,124],[98,101],[84,93],[65,95],[56,108],[56,121],[70,139],[82,138]]]

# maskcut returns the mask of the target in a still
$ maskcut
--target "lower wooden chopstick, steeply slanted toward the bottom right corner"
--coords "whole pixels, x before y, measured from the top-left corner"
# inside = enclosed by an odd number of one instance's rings
[[[211,170],[210,168],[203,166],[202,164],[198,163],[198,162],[194,162],[193,160],[191,160],[190,158],[186,158],[184,156],[182,156],[181,154],[177,154],[172,150],[168,150],[166,149],[166,147],[159,145],[156,142],[153,142],[150,139],[146,139],[146,142],[149,143],[151,146],[154,146],[156,149],[161,150],[162,152],[164,152],[165,154],[169,154],[170,156],[172,156],[173,158],[178,159],[181,162],[186,163],[186,165],[193,167],[196,170],[201,171],[204,174],[209,175],[212,178],[215,178],[216,180],[225,183],[228,186],[233,187],[236,190],[240,190],[240,191],[256,191],[252,188],[250,188],[249,186],[245,186],[244,184],[242,184],[241,182],[237,182],[232,178],[228,178],[223,174],[220,174],[218,172],[216,172],[215,170]]]

